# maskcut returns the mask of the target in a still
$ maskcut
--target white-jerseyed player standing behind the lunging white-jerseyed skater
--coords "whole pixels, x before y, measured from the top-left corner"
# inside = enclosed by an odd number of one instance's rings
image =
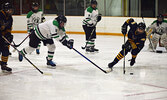
[[[33,29],[37,24],[45,21],[45,17],[43,17],[43,12],[39,9],[39,4],[37,2],[32,3],[32,10],[27,14],[27,30],[30,33],[30,30]],[[40,46],[41,42],[38,44],[36,49],[36,53],[40,54]]]

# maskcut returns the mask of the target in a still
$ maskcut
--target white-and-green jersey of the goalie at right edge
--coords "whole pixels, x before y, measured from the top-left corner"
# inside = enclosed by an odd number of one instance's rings
[[[167,33],[167,20],[163,20],[162,23],[157,23],[157,20],[155,20],[149,27],[148,29],[152,30],[152,33],[157,33],[157,34],[164,34]]]

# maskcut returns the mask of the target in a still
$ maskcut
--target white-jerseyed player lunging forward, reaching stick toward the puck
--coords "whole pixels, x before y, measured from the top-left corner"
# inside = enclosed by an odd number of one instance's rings
[[[23,55],[31,53],[38,47],[40,41],[43,41],[48,47],[47,65],[51,68],[55,68],[56,64],[52,61],[55,51],[55,45],[52,38],[60,41],[64,46],[69,49],[73,48],[73,39],[68,40],[64,25],[67,19],[63,15],[59,15],[54,20],[45,21],[38,24],[31,31],[29,46],[21,50],[22,54],[19,54],[19,60],[23,60]]]

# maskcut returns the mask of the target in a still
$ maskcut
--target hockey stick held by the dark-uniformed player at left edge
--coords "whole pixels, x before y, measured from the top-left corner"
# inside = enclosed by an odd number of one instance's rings
[[[14,45],[12,45],[4,36],[2,36],[2,38],[9,43],[19,54],[22,54]],[[23,54],[22,54],[23,55]],[[33,65],[34,68],[36,68],[41,74],[44,75],[51,75],[50,73],[44,73],[42,72],[37,66],[35,66],[25,55],[23,55],[23,57],[31,64]]]

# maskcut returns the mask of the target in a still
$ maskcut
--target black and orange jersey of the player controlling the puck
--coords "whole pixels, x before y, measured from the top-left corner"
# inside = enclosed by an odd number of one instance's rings
[[[137,47],[143,48],[146,41],[146,32],[142,34],[137,33],[137,23],[133,19],[128,19],[124,24],[124,27],[130,27],[128,31],[128,41],[132,45],[132,49]],[[137,46],[137,47],[136,47]]]

